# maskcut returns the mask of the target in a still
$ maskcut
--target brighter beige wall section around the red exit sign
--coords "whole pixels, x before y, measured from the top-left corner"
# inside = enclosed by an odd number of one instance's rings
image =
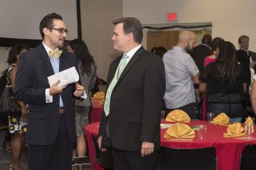
[[[178,13],[177,23],[213,23],[213,37],[219,36],[238,47],[238,37],[250,37],[256,51],[255,0],[123,0],[123,16],[134,16],[142,24],[169,23],[166,13]]]

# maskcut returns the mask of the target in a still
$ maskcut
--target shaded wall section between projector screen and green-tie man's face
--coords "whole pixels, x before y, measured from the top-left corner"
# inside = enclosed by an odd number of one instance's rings
[[[107,79],[110,63],[119,56],[111,37],[112,21],[122,17],[121,0],[81,0],[82,40],[87,44],[97,64],[97,75]]]

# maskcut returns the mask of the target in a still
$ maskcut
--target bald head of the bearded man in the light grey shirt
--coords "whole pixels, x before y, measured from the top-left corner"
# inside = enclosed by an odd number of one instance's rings
[[[193,33],[190,30],[183,30],[178,35],[178,47],[183,48],[188,52],[189,50],[192,50],[193,47],[196,45],[196,34]]]

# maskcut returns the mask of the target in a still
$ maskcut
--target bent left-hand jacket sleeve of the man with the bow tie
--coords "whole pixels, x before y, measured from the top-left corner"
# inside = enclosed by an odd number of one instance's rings
[[[27,60],[26,55],[21,55],[18,62],[16,74],[15,97],[17,101],[33,104],[46,104],[46,88],[33,87],[33,67],[32,63]]]

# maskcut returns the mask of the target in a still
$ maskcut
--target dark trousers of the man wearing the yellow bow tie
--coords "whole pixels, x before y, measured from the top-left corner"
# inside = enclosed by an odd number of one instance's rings
[[[70,170],[74,143],[65,113],[59,115],[58,136],[53,145],[29,145],[29,170]]]

